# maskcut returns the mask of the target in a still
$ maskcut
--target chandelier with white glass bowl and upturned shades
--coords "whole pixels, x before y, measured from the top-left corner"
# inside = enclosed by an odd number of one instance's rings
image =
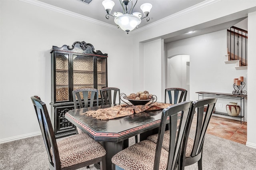
[[[152,8],[152,4],[145,3],[140,6],[140,9],[144,13],[144,17],[140,12],[133,12],[133,8],[137,3],[137,0],[135,4],[133,5],[132,0],[119,0],[120,4],[123,8],[123,12],[113,12],[113,14],[110,14],[113,6],[115,3],[112,0],[104,0],[102,2],[102,5],[104,6],[107,14],[106,18],[109,19],[109,16],[114,17],[114,22],[120,27],[122,30],[126,31],[127,34],[134,30],[134,28],[138,28],[138,25],[140,24],[141,20],[146,18],[146,21],[149,21],[148,14]],[[128,4],[131,5],[128,5]],[[128,11],[128,8],[130,6],[130,12]]]

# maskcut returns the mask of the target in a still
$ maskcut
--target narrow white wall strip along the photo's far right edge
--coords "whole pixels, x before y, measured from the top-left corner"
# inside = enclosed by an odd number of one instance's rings
[[[248,122],[247,122],[247,146],[256,148],[256,12],[248,14]]]

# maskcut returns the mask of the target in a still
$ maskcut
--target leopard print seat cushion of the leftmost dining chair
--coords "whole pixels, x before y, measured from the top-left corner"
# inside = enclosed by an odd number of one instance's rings
[[[86,162],[106,155],[106,150],[85,133],[57,142],[61,168]],[[52,150],[51,150],[52,154]],[[53,156],[53,154],[52,154]],[[52,160],[54,161],[54,160]]]

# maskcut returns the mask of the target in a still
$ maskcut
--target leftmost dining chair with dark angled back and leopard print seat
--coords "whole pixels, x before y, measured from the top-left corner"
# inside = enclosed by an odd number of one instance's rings
[[[32,96],[32,103],[46,147],[50,170],[75,170],[100,162],[106,170],[106,150],[87,134],[76,134],[56,142],[46,104]]]

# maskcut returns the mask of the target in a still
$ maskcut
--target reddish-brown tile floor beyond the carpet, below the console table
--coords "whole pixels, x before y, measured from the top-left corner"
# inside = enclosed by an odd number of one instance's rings
[[[195,117],[194,117],[195,118]],[[191,128],[196,127],[196,121],[193,119]],[[236,121],[233,119],[212,116],[206,133],[232,140],[241,144],[246,144],[247,140],[247,122]]]

